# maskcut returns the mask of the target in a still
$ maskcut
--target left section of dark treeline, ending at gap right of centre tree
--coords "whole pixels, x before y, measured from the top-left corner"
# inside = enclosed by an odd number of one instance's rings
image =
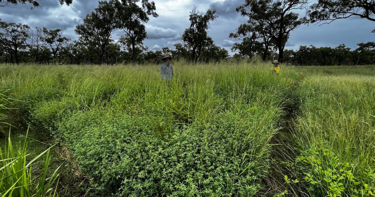
[[[180,37],[174,50],[168,47],[150,51],[144,46],[147,38],[145,23],[149,17],[158,17],[154,2],[148,0],[101,1],[98,8],[76,26],[80,36],[72,41],[63,36],[63,30],[45,27],[31,30],[26,24],[6,23],[0,20],[0,62],[37,64],[107,64],[160,63],[165,53],[176,59],[192,62],[219,62],[229,57],[228,51],[213,44],[207,36],[210,21],[216,11],[190,12],[190,27]],[[114,30],[123,30],[118,41],[112,39]]]

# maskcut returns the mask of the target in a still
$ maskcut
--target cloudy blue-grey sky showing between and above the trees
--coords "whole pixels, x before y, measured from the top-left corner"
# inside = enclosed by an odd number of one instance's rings
[[[235,9],[244,0],[154,0],[156,12],[159,17],[151,17],[146,24],[148,39],[144,44],[150,50],[162,47],[173,48],[178,37],[189,27],[189,12],[194,5],[199,11],[209,8],[216,9],[219,16],[210,24],[208,35],[214,44],[230,51],[234,41],[228,38],[229,33],[236,32],[236,28],[246,23],[246,18],[241,17]],[[30,27],[46,27],[47,29],[65,29],[65,35],[77,39],[74,29],[82,23],[83,18],[98,6],[96,0],[74,0],[71,6],[57,3],[57,0],[42,0],[40,7],[30,9],[30,5],[8,5],[0,7],[0,18],[6,22],[28,24]],[[337,47],[346,44],[354,49],[359,42],[375,41],[371,31],[375,23],[360,18],[336,20],[331,24],[322,26],[309,24],[294,30],[286,48],[296,50],[300,45],[315,45],[316,47]],[[124,32],[117,30],[113,39],[117,39]],[[233,54],[233,53],[231,53]]]

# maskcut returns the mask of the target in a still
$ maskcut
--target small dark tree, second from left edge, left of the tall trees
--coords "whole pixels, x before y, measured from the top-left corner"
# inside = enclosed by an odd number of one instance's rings
[[[58,58],[58,63],[60,64],[60,49],[68,43],[70,40],[69,38],[63,37],[63,30],[55,29],[55,30],[47,30],[45,27],[43,27],[43,41],[46,42],[46,44],[49,45],[49,47],[52,50],[53,58]]]

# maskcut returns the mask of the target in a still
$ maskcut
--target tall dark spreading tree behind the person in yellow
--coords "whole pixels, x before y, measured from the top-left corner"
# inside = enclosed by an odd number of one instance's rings
[[[252,31],[257,32],[256,35],[275,41],[278,60],[282,62],[290,32],[309,22],[306,16],[299,18],[299,14],[293,11],[307,9],[308,4],[309,0],[245,0],[236,11],[249,18],[248,24]]]

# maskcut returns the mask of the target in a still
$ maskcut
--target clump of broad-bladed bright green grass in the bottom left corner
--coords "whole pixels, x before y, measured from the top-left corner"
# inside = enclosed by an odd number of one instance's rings
[[[49,149],[34,157],[30,162],[27,162],[27,158],[30,154],[26,152],[26,149],[27,134],[21,147],[13,147],[10,134],[8,137],[8,146],[0,147],[0,195],[44,197],[49,194],[49,196],[55,196],[57,186],[55,189],[53,189],[53,186],[56,181],[58,183],[58,168],[51,177],[46,177],[49,164]],[[45,153],[47,154],[44,168],[39,178],[34,177],[32,166],[34,162]]]

